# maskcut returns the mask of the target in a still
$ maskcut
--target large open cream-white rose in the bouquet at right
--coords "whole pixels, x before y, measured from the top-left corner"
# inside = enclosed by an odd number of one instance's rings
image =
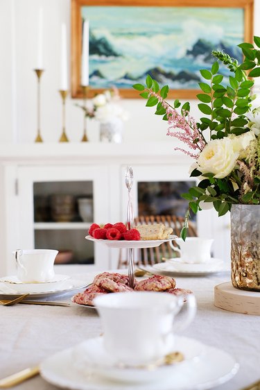
[[[215,178],[225,178],[234,169],[239,152],[234,151],[228,137],[214,139],[200,152],[198,166],[202,173],[214,173]]]

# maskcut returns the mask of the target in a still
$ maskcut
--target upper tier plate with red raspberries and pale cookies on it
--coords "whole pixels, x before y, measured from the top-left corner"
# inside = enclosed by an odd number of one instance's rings
[[[163,242],[176,239],[177,236],[171,235],[172,232],[173,229],[163,223],[137,225],[131,229],[123,222],[106,223],[104,226],[92,223],[89,235],[85,238],[110,248],[154,248]]]

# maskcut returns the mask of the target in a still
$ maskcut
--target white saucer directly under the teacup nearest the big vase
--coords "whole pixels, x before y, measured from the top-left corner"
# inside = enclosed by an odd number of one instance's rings
[[[182,261],[182,259],[175,258],[169,259],[166,261],[166,264],[171,266],[172,271],[189,271],[189,272],[205,272],[205,271],[220,271],[223,269],[224,262],[223,260],[216,259],[211,257],[211,259],[207,260],[205,263],[200,264],[189,264]],[[170,270],[170,268],[169,268]]]

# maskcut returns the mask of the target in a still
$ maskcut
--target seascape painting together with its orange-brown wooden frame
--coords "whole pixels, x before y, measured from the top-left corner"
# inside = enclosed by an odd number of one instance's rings
[[[137,99],[132,85],[150,74],[168,84],[170,97],[192,99],[213,49],[242,61],[237,45],[252,42],[253,12],[254,0],[71,0],[71,96],[83,96],[84,20],[89,97],[116,87]]]

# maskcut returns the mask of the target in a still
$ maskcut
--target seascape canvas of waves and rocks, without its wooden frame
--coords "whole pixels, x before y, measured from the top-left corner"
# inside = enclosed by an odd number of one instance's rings
[[[242,61],[243,8],[83,6],[81,17],[89,20],[93,88],[130,89],[150,74],[171,89],[196,90],[213,49]]]

